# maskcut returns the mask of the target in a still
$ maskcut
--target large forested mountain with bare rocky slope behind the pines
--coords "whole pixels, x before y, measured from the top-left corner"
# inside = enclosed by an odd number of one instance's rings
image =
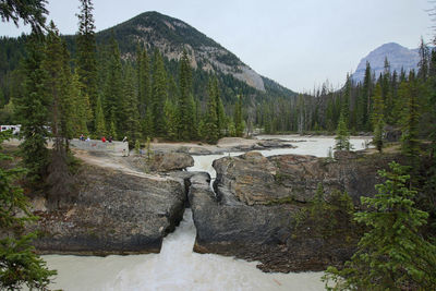
[[[277,82],[259,75],[243,63],[234,53],[223,48],[185,22],[158,12],[145,12],[126,22],[96,33],[99,52],[109,44],[113,32],[121,58],[125,61],[136,58],[137,46],[146,47],[149,54],[158,49],[165,57],[169,82],[178,82],[179,60],[185,49],[193,70],[193,93],[201,100],[207,96],[207,83],[211,73],[216,74],[221,98],[225,104],[235,102],[235,96],[242,94],[244,101],[254,106],[262,100],[292,98],[296,93]],[[62,36],[75,58],[76,35]],[[27,36],[17,38],[0,37],[0,96],[9,100],[10,88],[5,76],[11,75],[20,59],[25,54],[24,44]],[[100,53],[100,58],[105,56]],[[104,60],[100,60],[104,61]],[[1,104],[1,99],[0,99]]]

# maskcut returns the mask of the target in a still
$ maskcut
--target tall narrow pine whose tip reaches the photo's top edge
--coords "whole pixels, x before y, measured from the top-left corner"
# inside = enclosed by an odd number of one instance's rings
[[[78,17],[76,72],[80,82],[83,84],[82,95],[87,96],[92,112],[95,113],[98,86],[94,7],[92,0],[80,0],[80,2],[81,13],[76,14]],[[93,117],[89,120],[93,120]]]

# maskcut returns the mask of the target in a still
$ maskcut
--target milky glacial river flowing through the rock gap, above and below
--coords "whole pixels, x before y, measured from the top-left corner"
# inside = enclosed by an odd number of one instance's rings
[[[259,136],[258,138],[270,138]],[[274,136],[278,137],[278,136]],[[326,157],[331,137],[279,136],[295,141],[296,148],[261,150],[265,156],[304,154]],[[367,140],[367,138],[366,138]],[[351,140],[354,149],[364,147],[365,138]],[[241,153],[226,155],[237,156]],[[211,161],[225,155],[195,156],[190,170],[208,171],[215,178]],[[164,240],[159,254],[129,256],[45,255],[58,276],[50,289],[63,290],[324,290],[323,272],[266,274],[255,262],[214,254],[194,253],[196,230],[186,209],[173,233]]]

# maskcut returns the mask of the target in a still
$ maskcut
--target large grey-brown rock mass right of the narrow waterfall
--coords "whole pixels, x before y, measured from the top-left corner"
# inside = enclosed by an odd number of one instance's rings
[[[327,196],[347,191],[358,203],[361,195],[373,195],[379,182],[376,170],[387,167],[387,160],[343,151],[336,158],[247,153],[216,160],[215,193],[208,177],[191,179],[194,250],[261,260],[258,267],[267,271],[323,270],[343,263],[355,241],[295,233],[296,214],[319,182]]]

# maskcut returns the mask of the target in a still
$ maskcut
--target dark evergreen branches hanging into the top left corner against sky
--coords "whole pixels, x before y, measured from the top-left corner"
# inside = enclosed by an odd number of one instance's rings
[[[13,21],[19,26],[19,21],[29,24],[32,29],[37,34],[43,34],[46,23],[46,0],[26,0],[26,1],[1,1],[0,17],[1,21]]]

